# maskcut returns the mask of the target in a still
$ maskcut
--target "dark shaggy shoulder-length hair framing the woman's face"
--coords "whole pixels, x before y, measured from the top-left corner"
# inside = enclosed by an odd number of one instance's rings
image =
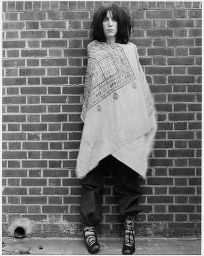
[[[107,11],[112,11],[113,17],[118,22],[116,43],[127,44],[130,40],[131,31],[133,30],[130,12],[127,8],[116,4],[101,5],[101,7],[94,13],[91,23],[92,40],[98,40],[101,42],[106,41],[106,37],[103,32],[103,19],[106,17]]]

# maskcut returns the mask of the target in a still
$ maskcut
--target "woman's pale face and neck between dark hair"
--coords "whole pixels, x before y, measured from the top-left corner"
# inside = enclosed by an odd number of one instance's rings
[[[103,19],[103,32],[107,43],[115,43],[116,34],[118,32],[118,22],[112,16],[112,11],[107,11],[106,17]]]

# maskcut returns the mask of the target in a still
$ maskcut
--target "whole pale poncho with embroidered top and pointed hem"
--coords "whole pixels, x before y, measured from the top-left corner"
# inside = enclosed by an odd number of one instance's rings
[[[157,123],[137,46],[94,40],[87,49],[76,175],[85,177],[112,154],[145,178]]]

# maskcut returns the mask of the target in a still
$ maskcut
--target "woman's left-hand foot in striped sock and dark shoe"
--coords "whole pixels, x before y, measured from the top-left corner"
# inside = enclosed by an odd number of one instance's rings
[[[100,249],[100,244],[97,241],[95,227],[85,226],[83,229],[83,235],[88,252],[90,252],[90,254],[95,254],[98,252]]]

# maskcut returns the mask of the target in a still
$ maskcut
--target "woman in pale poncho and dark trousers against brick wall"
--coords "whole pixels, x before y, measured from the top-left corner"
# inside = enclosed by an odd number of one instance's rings
[[[114,192],[125,220],[123,254],[133,254],[139,175],[146,177],[156,130],[155,111],[137,47],[130,43],[130,13],[103,5],[92,21],[82,110],[84,123],[76,174],[82,181],[82,222],[88,251],[100,249],[95,225],[101,220],[103,174],[115,172]]]

